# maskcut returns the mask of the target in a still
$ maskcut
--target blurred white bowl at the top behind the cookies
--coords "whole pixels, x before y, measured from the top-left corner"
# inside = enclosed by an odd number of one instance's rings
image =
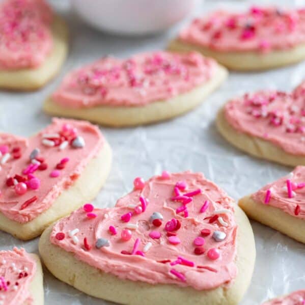
[[[76,13],[99,30],[130,35],[160,32],[183,19],[196,0],[72,0]]]

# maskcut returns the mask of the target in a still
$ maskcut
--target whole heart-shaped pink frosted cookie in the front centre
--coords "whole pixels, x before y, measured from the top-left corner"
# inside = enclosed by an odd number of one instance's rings
[[[92,205],[42,234],[58,279],[124,304],[237,304],[252,277],[255,244],[245,214],[201,173],[134,180],[114,208]]]

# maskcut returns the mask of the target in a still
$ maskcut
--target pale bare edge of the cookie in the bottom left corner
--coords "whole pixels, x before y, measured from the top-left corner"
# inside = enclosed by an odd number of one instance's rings
[[[30,284],[31,296],[33,302],[25,303],[24,305],[43,305],[44,304],[44,292],[43,292],[43,272],[41,262],[36,254],[30,254],[30,256],[36,261],[36,274]]]

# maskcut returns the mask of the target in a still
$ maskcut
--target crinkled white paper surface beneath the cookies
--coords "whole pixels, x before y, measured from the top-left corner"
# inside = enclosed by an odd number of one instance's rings
[[[266,3],[266,1],[264,1]],[[274,0],[274,3],[279,1]],[[305,1],[295,3],[305,6]],[[227,5],[241,2],[231,1]],[[288,3],[288,1],[282,1]],[[291,1],[292,3],[292,1]],[[215,0],[204,8],[215,7]],[[57,5],[65,9],[65,3]],[[41,103],[71,68],[93,61],[105,54],[126,57],[137,51],[163,48],[173,32],[148,38],[106,36],[67,16],[72,32],[71,52],[61,76],[43,90],[34,93],[0,93],[0,130],[30,135],[46,126],[50,118],[41,112]],[[95,201],[99,207],[113,206],[132,188],[136,176],[149,178],[163,169],[171,172],[191,169],[223,187],[236,200],[267,182],[287,174],[291,169],[249,157],[227,144],[218,134],[214,118],[228,98],[263,88],[291,90],[305,79],[305,62],[261,73],[231,73],[228,81],[202,106],[183,117],[151,126],[101,128],[114,151],[114,163],[104,189]],[[305,245],[253,222],[257,261],[251,287],[241,305],[257,305],[276,295],[305,288]],[[14,245],[37,252],[38,239],[20,242],[0,232],[0,249]],[[102,300],[86,296],[45,272],[46,305],[101,305]]]

